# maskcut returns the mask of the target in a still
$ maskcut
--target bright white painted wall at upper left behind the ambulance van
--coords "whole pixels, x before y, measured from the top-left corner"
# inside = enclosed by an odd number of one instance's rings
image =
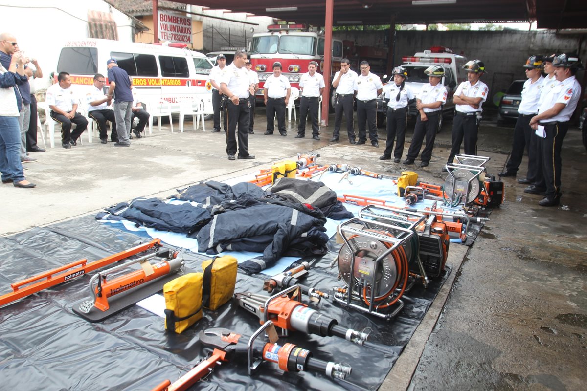
[[[132,42],[131,19],[102,0],[2,0],[1,32],[10,32],[29,57],[35,57],[43,70],[36,79],[38,89],[49,84],[56,71],[59,52],[68,40],[88,38],[87,12],[113,12],[119,40]]]

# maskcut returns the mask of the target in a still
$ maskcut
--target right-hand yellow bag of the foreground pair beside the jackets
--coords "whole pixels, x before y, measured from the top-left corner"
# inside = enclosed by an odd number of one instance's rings
[[[238,261],[235,257],[214,257],[202,263],[204,269],[203,304],[215,311],[231,299],[237,284]]]

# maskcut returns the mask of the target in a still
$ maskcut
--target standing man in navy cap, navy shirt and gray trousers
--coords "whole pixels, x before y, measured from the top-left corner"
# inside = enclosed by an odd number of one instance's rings
[[[129,74],[120,69],[115,59],[106,62],[108,66],[108,101],[114,98],[114,118],[116,118],[116,147],[130,147],[130,121],[133,117],[133,92],[130,90]]]

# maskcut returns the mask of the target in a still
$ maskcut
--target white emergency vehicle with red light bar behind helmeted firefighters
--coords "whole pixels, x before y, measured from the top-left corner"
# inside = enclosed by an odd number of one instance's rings
[[[430,50],[424,50],[410,57],[402,57],[402,66],[407,70],[408,78],[406,86],[408,86],[416,95],[419,93],[421,87],[429,82],[428,76],[424,74],[427,67],[438,64],[444,67],[444,77],[440,81],[446,87],[447,98],[446,104],[443,105],[443,115],[438,115],[438,131],[440,131],[443,124],[443,117],[454,114],[454,92],[457,90],[458,84],[461,81],[467,80],[467,72],[461,67],[467,62],[467,58],[456,55],[452,50],[443,46],[433,46]],[[383,127],[387,117],[387,103],[383,100],[383,95],[392,86],[392,76],[383,76],[383,93],[377,97],[377,127]],[[389,87],[386,87],[389,84]],[[416,102],[410,103],[408,106],[408,115],[416,116]]]

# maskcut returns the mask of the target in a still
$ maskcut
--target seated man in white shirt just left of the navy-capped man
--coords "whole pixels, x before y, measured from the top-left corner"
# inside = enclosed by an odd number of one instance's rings
[[[104,94],[104,83],[106,83],[104,75],[96,73],[94,76],[94,85],[90,87],[90,90],[86,95],[87,116],[95,120],[98,124],[98,131],[100,132],[100,141],[102,144],[108,142],[106,121],[112,123],[110,141],[118,142],[118,137],[116,135],[116,118],[114,118],[114,110],[108,108],[108,97]]]

